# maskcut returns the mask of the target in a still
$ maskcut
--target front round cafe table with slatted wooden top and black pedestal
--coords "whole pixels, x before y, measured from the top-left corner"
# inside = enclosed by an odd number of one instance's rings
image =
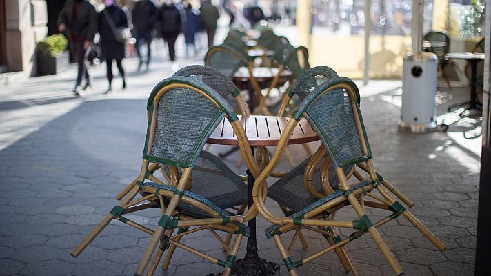
[[[243,128],[251,146],[252,155],[256,146],[275,146],[278,144],[281,137],[281,132],[285,129],[288,121],[291,118],[274,117],[263,115],[250,115],[248,117],[239,117]],[[292,137],[288,144],[303,144],[319,140],[317,133],[312,129],[310,124],[305,119],[300,119],[299,124],[295,127]],[[234,130],[226,118],[214,130],[210,138],[209,144],[232,145],[238,146],[237,137]],[[254,176],[250,170],[247,170],[248,184],[248,208],[253,204],[252,187],[254,186]],[[246,257],[235,261],[232,266],[231,275],[276,275],[273,274],[279,268],[279,264],[268,262],[266,259],[259,257],[257,253],[256,241],[256,219],[248,221],[250,235],[247,239]]]

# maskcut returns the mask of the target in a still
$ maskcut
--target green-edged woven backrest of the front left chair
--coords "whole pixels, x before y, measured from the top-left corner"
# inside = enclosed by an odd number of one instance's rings
[[[192,168],[223,117],[237,121],[218,92],[191,77],[164,79],[150,93],[143,159]]]

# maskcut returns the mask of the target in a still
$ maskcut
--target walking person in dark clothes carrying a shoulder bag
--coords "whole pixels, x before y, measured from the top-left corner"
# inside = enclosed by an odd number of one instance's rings
[[[116,61],[119,74],[123,78],[123,89],[126,88],[126,79],[123,69],[125,56],[125,43],[116,41],[114,31],[117,28],[128,27],[126,13],[119,8],[114,0],[104,0],[106,8],[99,14],[99,34],[101,35],[102,57],[106,59],[106,70],[109,87],[106,93],[112,91],[112,61]]]

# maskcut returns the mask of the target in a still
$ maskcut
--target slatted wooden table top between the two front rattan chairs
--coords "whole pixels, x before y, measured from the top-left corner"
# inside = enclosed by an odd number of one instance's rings
[[[291,120],[291,118],[286,117],[263,115],[250,115],[248,117],[239,116],[239,119],[246,130],[251,146],[277,145],[281,137],[281,132],[285,129],[288,121]],[[317,140],[319,140],[317,133],[312,129],[305,118],[301,118],[299,124],[294,128],[288,144],[303,144]],[[223,118],[223,121],[215,128],[208,139],[208,143],[234,146],[239,144],[228,119]]]

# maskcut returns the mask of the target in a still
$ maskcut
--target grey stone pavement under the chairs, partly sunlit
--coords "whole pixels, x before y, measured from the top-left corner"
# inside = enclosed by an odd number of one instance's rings
[[[137,73],[137,61],[126,59],[128,88],[103,95],[104,66],[95,68],[95,86],[82,97],[73,97],[74,69],[50,77],[35,77],[0,88],[0,275],[133,275],[149,237],[113,221],[77,259],[70,256],[94,224],[116,204],[114,196],[139,172],[146,134],[146,98],[154,83],[172,75],[163,50],[157,50],[150,72]],[[177,66],[201,63],[179,59]],[[183,52],[178,52],[183,56]],[[120,83],[115,83],[118,87]],[[479,123],[464,120],[450,132],[415,135],[397,132],[399,81],[372,81],[360,86],[361,109],[374,164],[384,177],[414,200],[410,210],[441,238],[448,250],[439,253],[408,221],[398,218],[380,233],[405,275],[473,275],[477,228],[479,156],[462,139],[475,135]],[[448,103],[465,99],[467,88],[441,88],[439,115],[447,121]],[[442,118],[442,117],[441,117]],[[450,118],[450,119],[449,119]],[[477,130],[476,130],[477,129]],[[477,140],[475,140],[477,139]],[[474,145],[472,144],[472,145]],[[471,145],[471,147],[472,147]],[[212,152],[227,148],[211,146]],[[296,161],[306,155],[292,147]],[[237,155],[227,159],[236,167]],[[281,168],[288,168],[283,162]],[[272,201],[268,206],[279,213]],[[379,211],[368,211],[379,218]],[[354,219],[348,211],[339,217]],[[130,215],[153,227],[158,210]],[[288,275],[278,250],[258,219],[259,255],[282,264],[279,275]],[[343,231],[346,235],[349,232]],[[299,244],[292,259],[326,246],[319,235],[305,232],[309,248]],[[225,255],[206,233],[183,239],[200,250]],[[239,258],[244,256],[243,242]],[[348,245],[362,275],[392,275],[374,242],[363,236]],[[177,250],[169,270],[155,275],[208,275],[219,266]],[[345,275],[330,253],[299,268],[299,275]]]

